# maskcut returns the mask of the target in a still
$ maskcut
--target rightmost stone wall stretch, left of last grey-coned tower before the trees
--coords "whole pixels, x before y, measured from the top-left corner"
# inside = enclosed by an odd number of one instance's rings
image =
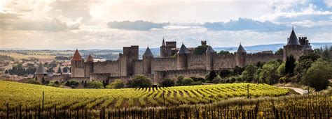
[[[215,55],[213,58],[213,69],[221,70],[226,68],[234,68],[236,65],[235,55]]]

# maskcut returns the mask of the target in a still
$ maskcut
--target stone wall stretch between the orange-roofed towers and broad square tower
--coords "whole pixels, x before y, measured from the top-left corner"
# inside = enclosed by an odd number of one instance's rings
[[[120,63],[119,61],[104,61],[95,62],[93,65],[93,73],[95,74],[105,74],[109,73],[111,76],[120,75]]]

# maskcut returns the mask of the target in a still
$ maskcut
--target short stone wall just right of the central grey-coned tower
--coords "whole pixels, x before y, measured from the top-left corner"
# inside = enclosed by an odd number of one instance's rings
[[[188,55],[187,57],[188,70],[205,69],[206,57],[203,55]]]

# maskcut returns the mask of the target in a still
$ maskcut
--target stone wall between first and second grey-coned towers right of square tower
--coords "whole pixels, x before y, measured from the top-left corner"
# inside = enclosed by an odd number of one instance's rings
[[[151,72],[160,70],[177,70],[177,58],[153,58]]]

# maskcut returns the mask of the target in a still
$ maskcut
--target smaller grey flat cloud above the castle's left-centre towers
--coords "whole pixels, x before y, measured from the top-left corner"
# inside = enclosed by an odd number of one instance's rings
[[[125,29],[125,30],[137,30],[137,31],[149,31],[151,29],[162,29],[164,26],[167,26],[169,23],[153,23],[145,21],[123,21],[123,22],[109,22],[107,26],[112,29]]]

